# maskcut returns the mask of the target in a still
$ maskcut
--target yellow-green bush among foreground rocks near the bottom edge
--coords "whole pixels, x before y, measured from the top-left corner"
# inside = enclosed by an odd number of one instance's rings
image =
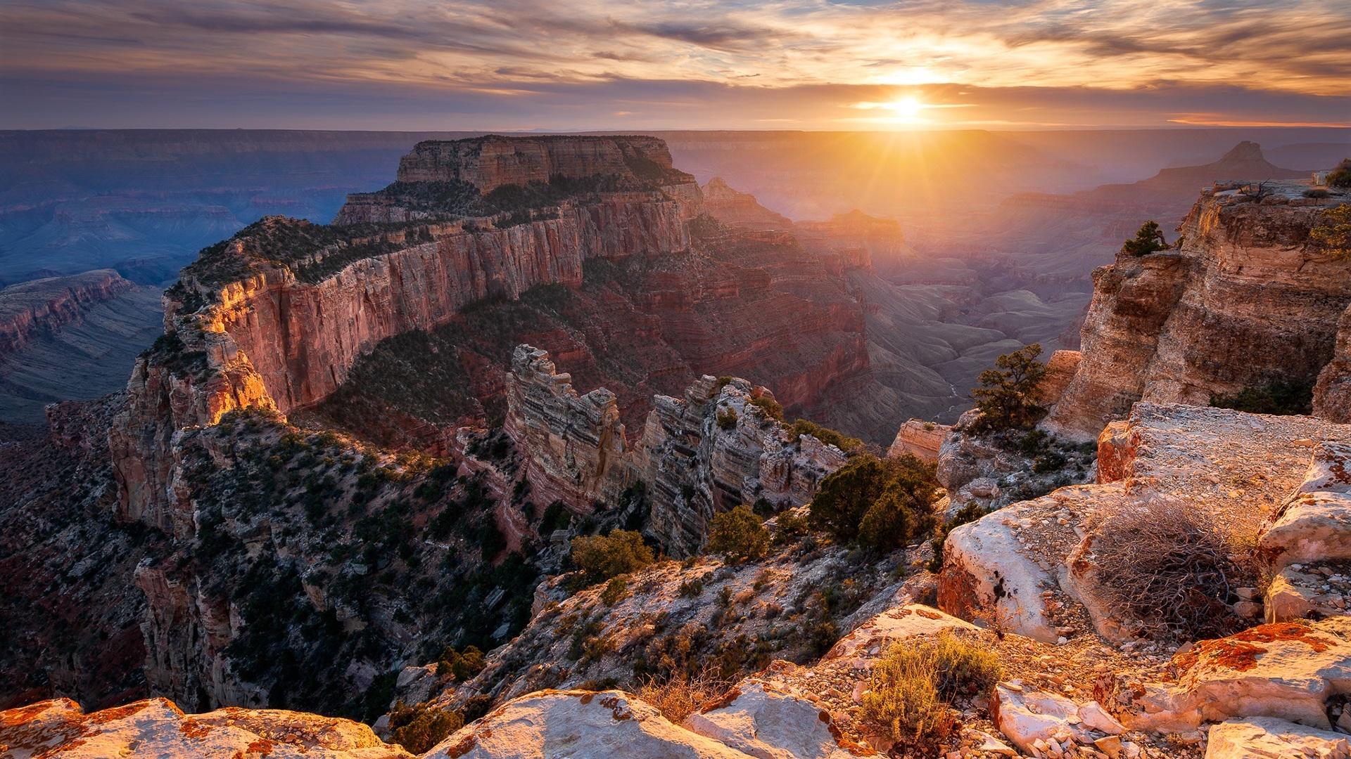
[[[863,716],[900,745],[936,752],[957,732],[951,700],[989,690],[1000,677],[993,651],[951,632],[921,643],[900,643],[873,667]]]

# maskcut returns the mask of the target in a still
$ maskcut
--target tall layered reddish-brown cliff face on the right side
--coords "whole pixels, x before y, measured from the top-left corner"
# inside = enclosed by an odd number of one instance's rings
[[[1332,359],[1351,263],[1309,244],[1320,213],[1286,182],[1260,203],[1205,193],[1175,250],[1119,255],[1093,273],[1082,362],[1047,428],[1094,438],[1132,402],[1205,405],[1217,393],[1308,382]]]

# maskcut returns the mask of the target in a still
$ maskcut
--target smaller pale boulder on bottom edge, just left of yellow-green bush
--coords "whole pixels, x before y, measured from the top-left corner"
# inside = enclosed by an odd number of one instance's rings
[[[873,754],[846,741],[830,712],[758,678],[742,681],[720,701],[690,714],[684,727],[758,759],[850,759]]]

